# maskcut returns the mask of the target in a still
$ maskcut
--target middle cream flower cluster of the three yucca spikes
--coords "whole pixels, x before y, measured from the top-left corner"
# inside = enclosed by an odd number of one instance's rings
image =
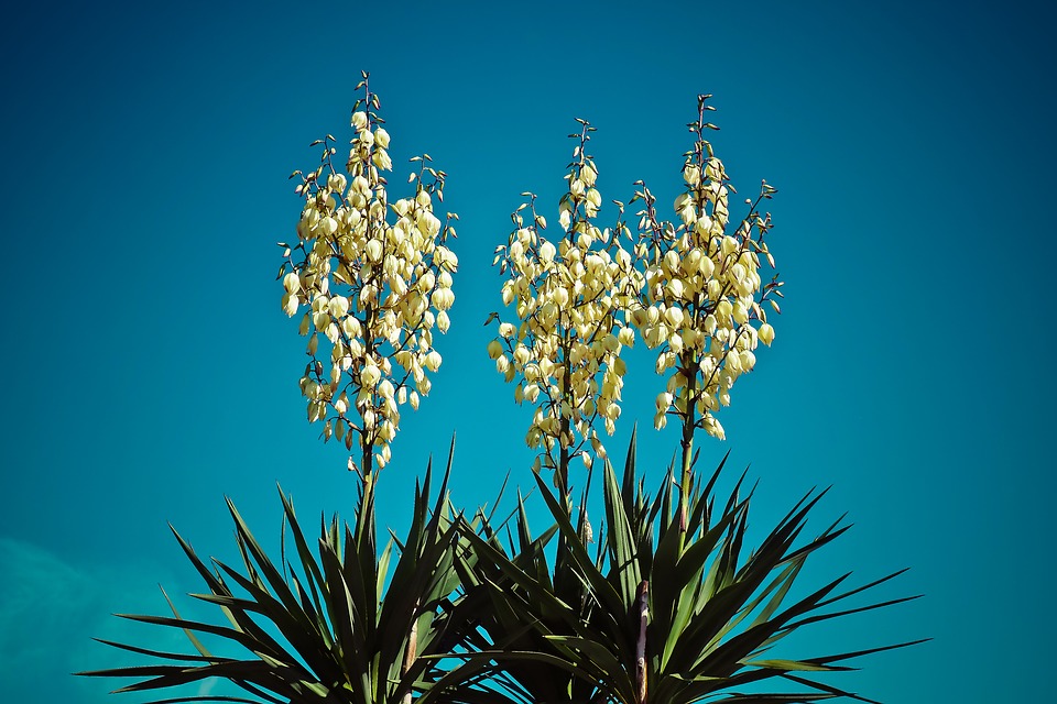
[[[525,441],[542,449],[537,466],[560,470],[555,483],[562,490],[570,459],[579,455],[590,465],[592,454],[606,454],[595,424],[601,420],[612,433],[620,416],[626,369],[620,354],[635,337],[624,317],[642,285],[620,243],[621,233],[630,238],[626,227],[620,219],[612,229],[595,224],[598,170],[585,152],[593,128],[579,122],[580,133],[570,135],[579,144],[566,175],[568,190],[558,206],[560,239],[542,234],[546,220],[526,193],[528,200],[511,215],[508,244],[495,250],[493,264],[508,275],[503,304],[514,307],[520,324],[500,320],[488,346],[497,371],[516,380],[514,399],[536,406]],[[489,322],[497,318],[492,314]]]

